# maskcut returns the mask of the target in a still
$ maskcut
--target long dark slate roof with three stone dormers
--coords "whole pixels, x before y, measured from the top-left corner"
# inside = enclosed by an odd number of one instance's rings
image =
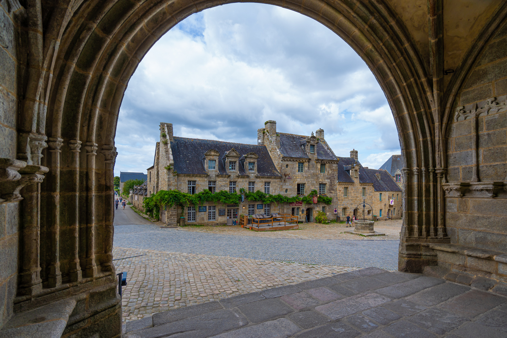
[[[178,174],[206,174],[204,168],[204,153],[210,149],[219,152],[219,161],[217,169],[219,174],[227,175],[225,164],[225,153],[232,148],[240,155],[255,153],[259,156],[257,159],[257,175],[259,176],[281,176],[276,169],[268,149],[265,145],[233,143],[216,140],[203,140],[198,138],[173,137],[170,142],[172,157],[174,159],[174,170]],[[248,175],[244,168],[244,158],[238,161],[238,173]]]

